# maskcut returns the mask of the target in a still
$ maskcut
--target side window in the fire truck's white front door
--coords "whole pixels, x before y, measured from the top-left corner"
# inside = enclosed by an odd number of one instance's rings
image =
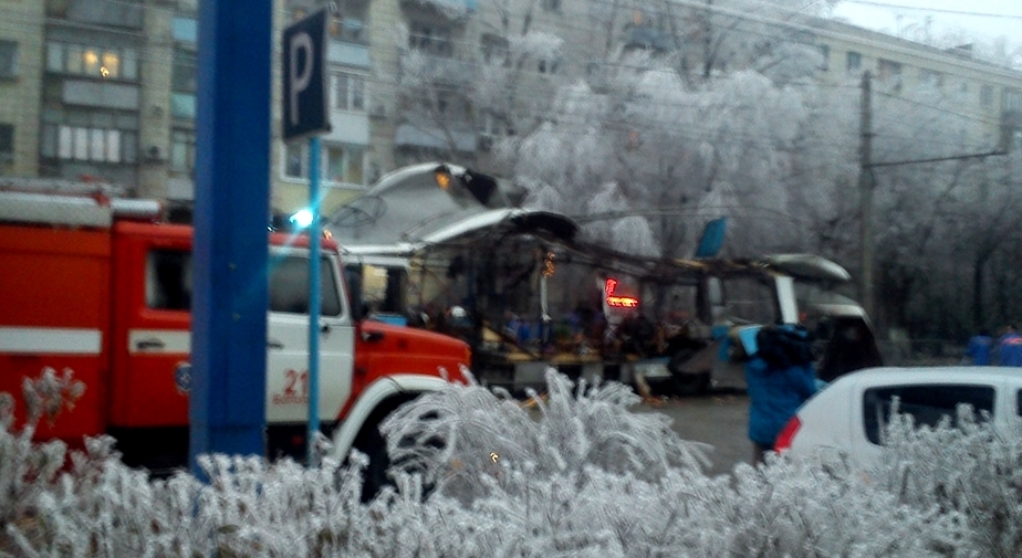
[[[309,314],[309,260],[299,256],[271,257],[270,312]],[[328,257],[320,263],[320,314],[341,315],[337,280]]]

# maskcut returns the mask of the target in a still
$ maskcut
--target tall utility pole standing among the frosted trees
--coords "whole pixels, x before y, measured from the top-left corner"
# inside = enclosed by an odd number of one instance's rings
[[[873,75],[863,72],[861,145],[858,152],[858,192],[861,223],[861,276],[858,281],[859,302],[866,315],[874,317],[873,294]]]

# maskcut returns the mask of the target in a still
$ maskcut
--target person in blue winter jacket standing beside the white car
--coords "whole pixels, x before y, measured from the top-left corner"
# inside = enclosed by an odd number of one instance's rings
[[[755,464],[763,463],[778,434],[816,392],[813,361],[813,340],[804,327],[765,326],[757,333],[754,351],[745,362],[749,439]]]

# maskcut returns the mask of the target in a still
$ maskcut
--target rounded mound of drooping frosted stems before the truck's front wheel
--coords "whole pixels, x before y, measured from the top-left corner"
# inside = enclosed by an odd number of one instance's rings
[[[535,410],[510,394],[468,386],[426,393],[398,409],[380,431],[393,460],[463,502],[489,494],[492,481],[514,491],[509,474],[528,477],[598,470],[656,482],[671,468],[699,471],[707,459],[681,440],[667,417],[635,414],[639,397],[620,383],[573,385],[549,372]],[[507,481],[507,482],[505,482]]]

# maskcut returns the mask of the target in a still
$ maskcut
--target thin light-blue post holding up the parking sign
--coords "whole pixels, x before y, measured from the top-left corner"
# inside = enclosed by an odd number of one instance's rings
[[[309,466],[319,465],[315,438],[320,432],[320,138],[309,139]]]

